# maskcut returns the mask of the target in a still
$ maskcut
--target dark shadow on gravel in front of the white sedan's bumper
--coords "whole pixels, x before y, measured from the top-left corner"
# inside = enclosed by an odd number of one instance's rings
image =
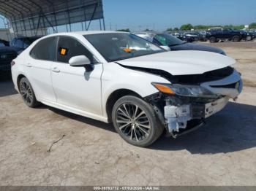
[[[236,152],[256,147],[256,106],[229,102],[206,125],[178,139],[162,136],[149,149],[181,150],[192,154]]]

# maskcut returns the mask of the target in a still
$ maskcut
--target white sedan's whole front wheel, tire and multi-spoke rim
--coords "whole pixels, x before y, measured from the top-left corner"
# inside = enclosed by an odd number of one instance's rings
[[[116,101],[112,120],[118,134],[129,144],[138,147],[153,144],[164,129],[153,107],[133,95],[124,96]]]

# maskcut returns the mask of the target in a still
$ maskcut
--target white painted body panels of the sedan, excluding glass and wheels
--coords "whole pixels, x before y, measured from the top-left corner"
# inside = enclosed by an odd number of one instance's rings
[[[141,97],[157,93],[151,82],[170,83],[167,79],[143,71],[124,68],[138,66],[161,69],[173,75],[203,74],[206,71],[231,66],[235,61],[224,55],[200,51],[162,52],[131,58],[118,63],[108,63],[105,58],[83,37],[86,34],[108,33],[103,31],[53,34],[50,36],[72,36],[90,50],[99,63],[94,70],[86,72],[83,67],[72,67],[67,63],[38,61],[29,52],[38,39],[15,59],[12,79],[18,90],[18,76],[29,79],[37,100],[67,112],[108,122],[106,104],[111,93],[120,89],[132,90]],[[30,64],[30,66],[28,66]]]

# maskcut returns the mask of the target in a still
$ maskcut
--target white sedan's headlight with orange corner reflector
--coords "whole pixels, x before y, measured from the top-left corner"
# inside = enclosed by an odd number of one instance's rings
[[[171,95],[181,95],[187,97],[207,97],[216,98],[217,95],[200,85],[179,85],[179,84],[161,84],[152,83],[162,93]]]

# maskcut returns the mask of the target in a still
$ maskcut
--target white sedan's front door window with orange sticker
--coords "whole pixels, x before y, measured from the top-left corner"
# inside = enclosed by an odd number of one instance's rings
[[[78,40],[67,36],[60,36],[57,61],[69,63],[69,59],[77,55],[85,55],[87,58],[89,58],[91,63],[97,63],[91,52],[87,50],[83,44],[78,42]]]

